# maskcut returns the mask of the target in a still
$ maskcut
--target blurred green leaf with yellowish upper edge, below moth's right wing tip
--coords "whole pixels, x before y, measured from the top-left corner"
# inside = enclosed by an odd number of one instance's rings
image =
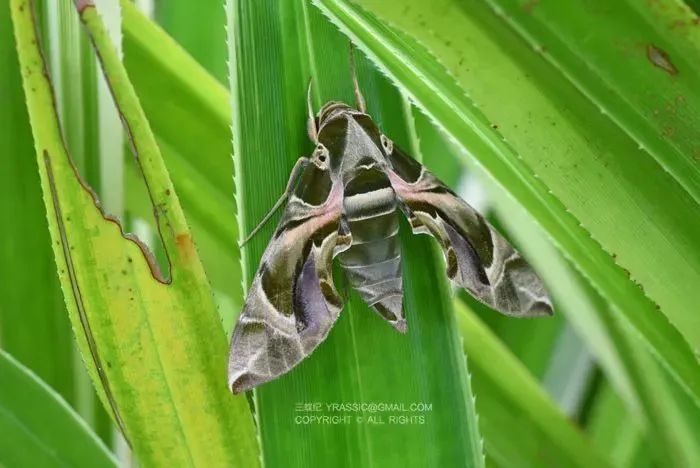
[[[503,466],[607,466],[530,375],[464,303],[455,303],[464,352],[474,369],[487,456]]]

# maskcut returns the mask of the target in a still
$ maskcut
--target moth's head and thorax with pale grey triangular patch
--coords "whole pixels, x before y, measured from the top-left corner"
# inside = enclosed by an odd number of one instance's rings
[[[329,102],[318,119],[319,142],[328,150],[332,172],[344,183],[358,171],[386,167],[379,129],[367,114],[347,104]]]

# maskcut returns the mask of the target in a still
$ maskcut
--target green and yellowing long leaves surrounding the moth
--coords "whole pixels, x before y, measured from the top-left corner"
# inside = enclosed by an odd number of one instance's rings
[[[700,465],[696,2],[96,3],[0,5],[0,466]],[[316,353],[233,397],[274,222],[238,242],[312,149],[308,80],[353,101],[348,39],[373,118],[557,313],[452,291],[403,225],[409,333],[348,291]]]

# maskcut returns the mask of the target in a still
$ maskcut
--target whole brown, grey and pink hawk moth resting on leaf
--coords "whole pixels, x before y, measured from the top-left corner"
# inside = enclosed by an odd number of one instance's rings
[[[338,258],[349,284],[384,320],[406,332],[399,216],[442,248],[447,276],[511,316],[551,315],[542,281],[518,252],[464,200],[384,135],[365,110],[331,101],[316,116],[315,149],[295,164],[287,188],[250,238],[287,205],[253,279],[231,340],[233,393],[288,372],[328,336],[343,301]]]

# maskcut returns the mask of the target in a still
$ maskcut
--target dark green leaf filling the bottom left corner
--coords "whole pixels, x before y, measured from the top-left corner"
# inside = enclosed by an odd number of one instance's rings
[[[66,402],[0,350],[0,465],[116,467]]]

